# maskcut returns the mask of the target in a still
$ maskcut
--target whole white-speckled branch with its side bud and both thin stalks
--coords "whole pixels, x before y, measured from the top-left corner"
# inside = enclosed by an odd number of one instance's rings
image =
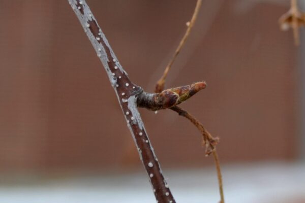
[[[196,9],[191,22],[188,24],[189,28],[187,29],[186,35],[180,42],[172,61],[169,63],[169,66],[165,71],[165,76],[162,79],[163,85],[159,85],[159,88],[157,88],[158,90],[156,89],[157,93],[147,93],[143,91],[141,87],[135,85],[130,81],[126,71],[117,60],[104,33],[99,27],[85,0],[68,1],[76,16],[78,17],[82,27],[84,28],[88,39],[96,50],[98,57],[104,65],[106,73],[108,74],[109,80],[117,95],[121,109],[123,110],[123,114],[125,115],[127,125],[136,143],[140,159],[149,176],[149,180],[153,185],[157,202],[174,203],[175,200],[171,194],[168,184],[162,175],[160,164],[154,153],[153,147],[149,142],[148,135],[144,128],[144,124],[137,107],[144,107],[154,111],[160,109],[172,109],[179,113],[179,115],[182,115],[192,121],[202,133],[203,140],[207,149],[206,154],[210,154],[211,152],[214,154],[218,169],[220,189],[222,191],[219,161],[215,151],[215,146],[218,143],[218,139],[211,137],[211,135],[205,130],[203,125],[197,119],[192,117],[188,112],[176,106],[190,98],[201,89],[205,88],[205,82],[197,82],[192,85],[175,87],[161,91],[164,87],[164,81],[167,72],[173,63],[175,56],[179,53],[181,47],[184,45],[196,20],[201,5],[201,0],[197,1]],[[223,195],[222,202],[224,202]]]

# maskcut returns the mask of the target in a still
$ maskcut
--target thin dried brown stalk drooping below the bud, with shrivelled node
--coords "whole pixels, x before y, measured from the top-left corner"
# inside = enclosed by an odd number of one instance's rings
[[[218,177],[218,184],[219,184],[219,193],[220,193],[220,199],[221,203],[224,203],[224,192],[223,192],[223,182],[222,182],[222,175],[221,175],[221,169],[220,169],[220,163],[219,158],[216,152],[216,145],[219,142],[218,138],[214,138],[211,136],[211,134],[205,129],[205,127],[202,125],[202,123],[197,120],[194,116],[192,116],[189,112],[181,109],[180,107],[172,107],[171,110],[177,112],[180,116],[183,116],[187,119],[189,119],[201,132],[202,134],[202,140],[203,145],[205,146],[205,155],[213,154],[214,162],[216,165],[216,171],[217,171],[217,177]]]

